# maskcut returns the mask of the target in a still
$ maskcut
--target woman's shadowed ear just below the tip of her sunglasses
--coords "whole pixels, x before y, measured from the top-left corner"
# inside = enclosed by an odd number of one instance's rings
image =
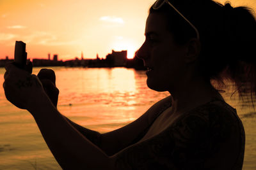
[[[191,38],[186,43],[186,57],[185,62],[194,62],[196,59],[198,59],[198,56],[201,51],[201,43],[199,39]]]

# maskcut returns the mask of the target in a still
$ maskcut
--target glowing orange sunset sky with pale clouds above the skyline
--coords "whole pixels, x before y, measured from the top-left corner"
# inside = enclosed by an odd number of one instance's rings
[[[143,43],[148,8],[155,0],[0,0],[0,59],[13,59],[15,41],[24,41],[28,58],[105,58],[111,50],[128,50]],[[225,1],[219,1],[221,3]],[[232,6],[255,0],[230,0]]]

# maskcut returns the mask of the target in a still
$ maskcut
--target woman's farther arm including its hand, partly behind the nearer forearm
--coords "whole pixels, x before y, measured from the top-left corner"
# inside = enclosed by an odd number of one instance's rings
[[[52,104],[57,108],[59,90],[56,87],[56,76],[54,71],[51,69],[41,69],[38,73],[38,78],[42,82],[45,93],[51,99]],[[161,108],[163,103],[166,103],[166,99],[154,104],[154,106],[152,106],[145,114],[131,124],[105,134],[86,129],[81,125],[72,122],[67,117],[63,117],[94,145],[101,148],[106,154],[113,155],[125,147],[132,145],[138,141],[138,138],[142,137],[141,135],[147,131],[148,125],[156,117],[156,114],[159,112],[159,108]],[[167,103],[170,104],[170,98],[167,99]]]

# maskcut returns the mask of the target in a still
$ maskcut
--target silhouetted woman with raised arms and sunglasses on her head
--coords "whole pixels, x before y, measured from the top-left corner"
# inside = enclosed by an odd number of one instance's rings
[[[137,57],[148,67],[148,87],[171,96],[105,134],[60,114],[51,70],[35,76],[9,64],[6,98],[33,115],[63,169],[242,169],[243,124],[211,80],[231,80],[241,95],[248,81],[255,97],[255,31],[249,8],[156,1]]]

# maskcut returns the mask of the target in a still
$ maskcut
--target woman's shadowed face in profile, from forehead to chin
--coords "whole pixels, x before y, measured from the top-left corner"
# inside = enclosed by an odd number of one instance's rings
[[[150,13],[145,27],[145,42],[137,52],[147,71],[147,85],[159,92],[179,87],[186,72],[185,46],[177,45],[168,31],[167,20],[161,13]]]

